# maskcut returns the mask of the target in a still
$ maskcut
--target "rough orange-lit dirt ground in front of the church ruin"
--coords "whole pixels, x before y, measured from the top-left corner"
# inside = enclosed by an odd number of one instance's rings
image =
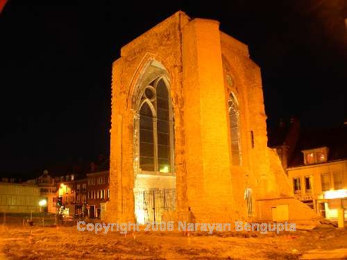
[[[308,250],[347,248],[347,229],[296,232],[94,234],[74,227],[0,225],[0,259],[300,259]]]

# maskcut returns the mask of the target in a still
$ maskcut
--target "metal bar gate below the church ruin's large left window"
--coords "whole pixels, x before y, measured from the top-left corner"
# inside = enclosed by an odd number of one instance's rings
[[[162,221],[164,211],[176,210],[176,189],[135,191],[137,223]]]

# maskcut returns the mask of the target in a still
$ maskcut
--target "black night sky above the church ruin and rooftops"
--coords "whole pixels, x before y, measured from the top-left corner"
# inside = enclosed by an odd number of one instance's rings
[[[177,10],[217,19],[262,69],[269,125],[346,117],[345,1],[9,1],[0,14],[0,173],[109,153],[112,61]],[[47,3],[49,2],[49,3]]]

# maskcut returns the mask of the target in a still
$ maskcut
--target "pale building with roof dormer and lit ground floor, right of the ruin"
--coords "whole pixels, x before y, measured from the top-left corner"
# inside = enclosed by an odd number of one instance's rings
[[[344,208],[347,219],[347,125],[301,130],[297,123],[274,132],[271,142],[294,196],[330,220],[337,220],[338,209]]]

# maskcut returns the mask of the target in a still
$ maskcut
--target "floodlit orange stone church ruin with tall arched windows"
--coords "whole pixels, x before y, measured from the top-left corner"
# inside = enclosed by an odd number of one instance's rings
[[[104,220],[312,220],[267,147],[260,68],[219,22],[178,11],[112,66]]]

